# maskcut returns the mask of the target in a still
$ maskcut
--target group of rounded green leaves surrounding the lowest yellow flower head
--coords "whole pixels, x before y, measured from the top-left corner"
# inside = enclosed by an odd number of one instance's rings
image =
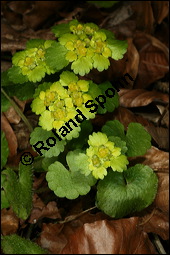
[[[85,153],[88,136],[92,130],[90,125],[89,121],[84,122],[80,133],[80,139],[83,137],[84,142],[74,139],[75,143],[70,141],[66,145],[66,150],[59,153],[62,142],[58,141],[56,147],[49,149],[48,152],[44,151],[43,167],[47,171],[49,188],[58,197],[75,199],[79,195],[86,195],[91,186],[96,184],[97,207],[115,218],[124,217],[149,206],[155,198],[158,184],[157,176],[150,167],[137,164],[123,172],[115,172],[109,168],[107,176],[99,181],[92,176]],[[144,155],[151,147],[151,137],[139,123],[130,123],[125,132],[119,121],[108,121],[101,131],[116,147],[121,148],[123,155],[128,157]],[[45,141],[49,135],[47,133],[42,132],[41,128],[36,128],[31,135],[31,143],[34,144],[39,137],[46,145]],[[50,136],[54,134],[51,132]]]

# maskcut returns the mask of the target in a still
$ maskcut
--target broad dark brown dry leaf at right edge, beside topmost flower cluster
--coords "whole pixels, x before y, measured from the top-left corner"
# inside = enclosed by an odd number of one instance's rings
[[[155,37],[137,32],[133,43],[139,51],[139,72],[134,88],[146,88],[169,71],[168,47]]]

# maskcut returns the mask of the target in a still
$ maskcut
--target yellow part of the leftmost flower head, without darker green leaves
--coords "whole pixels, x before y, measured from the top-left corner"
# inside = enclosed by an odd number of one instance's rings
[[[44,56],[45,50],[51,46],[52,42],[47,40],[37,47],[17,52],[12,58],[13,65],[20,67],[21,73],[26,75],[29,81],[41,81],[46,73],[54,73],[54,70],[46,64]]]

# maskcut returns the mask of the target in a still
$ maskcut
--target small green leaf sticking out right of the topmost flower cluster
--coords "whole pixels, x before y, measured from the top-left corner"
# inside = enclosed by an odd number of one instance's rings
[[[112,51],[112,58],[115,60],[119,60],[122,59],[123,55],[126,53],[128,43],[127,41],[120,41],[108,38],[107,46]]]

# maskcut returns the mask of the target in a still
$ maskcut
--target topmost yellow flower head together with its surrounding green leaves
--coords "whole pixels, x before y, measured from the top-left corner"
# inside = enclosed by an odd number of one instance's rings
[[[100,29],[94,23],[81,24],[72,20],[54,26],[52,31],[58,37],[58,43],[47,50],[48,64],[51,67],[57,64],[54,58],[57,54],[60,59],[65,59],[61,69],[71,63],[74,73],[82,76],[93,68],[99,72],[107,70],[109,58],[119,60],[127,50],[126,41],[116,40],[111,31]]]

